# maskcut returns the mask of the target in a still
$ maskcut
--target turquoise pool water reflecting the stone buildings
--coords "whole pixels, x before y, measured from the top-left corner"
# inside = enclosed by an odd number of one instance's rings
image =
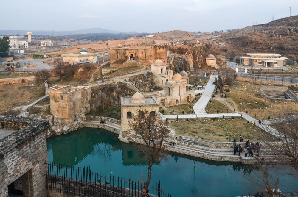
[[[117,137],[106,130],[91,128],[55,136],[47,139],[48,160],[77,167],[87,164],[95,173],[140,180],[142,174],[147,175],[148,166],[140,159],[134,145],[122,143]],[[255,191],[247,188],[251,183],[244,177],[255,171],[236,162],[170,154],[167,161],[153,165],[151,181],[160,180],[164,189],[175,197],[240,196]],[[280,170],[276,173],[280,175],[280,182],[287,180],[297,189],[297,177]],[[284,187],[280,189],[289,192]]]

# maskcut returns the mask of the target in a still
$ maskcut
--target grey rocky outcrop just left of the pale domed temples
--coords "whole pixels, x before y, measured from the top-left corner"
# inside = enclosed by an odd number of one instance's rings
[[[155,89],[153,75],[149,71],[143,74],[131,77],[128,79],[128,81],[141,92],[150,92],[151,89]]]

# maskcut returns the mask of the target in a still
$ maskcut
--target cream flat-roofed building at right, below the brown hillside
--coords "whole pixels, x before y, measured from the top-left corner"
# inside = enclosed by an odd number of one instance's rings
[[[280,54],[273,53],[247,53],[246,56],[241,56],[241,65],[277,67],[287,64],[286,57],[280,57]]]

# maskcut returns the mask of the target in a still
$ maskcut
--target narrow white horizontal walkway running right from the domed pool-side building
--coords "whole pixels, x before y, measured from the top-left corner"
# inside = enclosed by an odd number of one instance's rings
[[[165,120],[166,118],[169,119],[174,119],[177,118],[177,115],[162,115],[161,113],[159,113],[159,115],[161,116],[162,120]],[[239,117],[241,116],[238,113],[222,113],[222,114],[197,114],[196,118],[219,118],[219,117],[224,117],[228,118],[228,117]],[[195,118],[194,114],[184,114],[184,115],[178,115],[178,118]]]

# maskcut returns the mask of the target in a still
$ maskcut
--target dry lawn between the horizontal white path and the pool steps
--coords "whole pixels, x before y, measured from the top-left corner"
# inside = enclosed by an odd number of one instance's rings
[[[181,122],[181,121],[184,122]],[[221,119],[218,121],[215,118],[213,121],[211,118],[197,119],[196,132],[194,131],[195,122],[191,120],[187,122],[186,119],[168,120],[170,128],[174,129],[176,134],[187,137],[194,137],[201,140],[209,140],[214,142],[232,142],[234,137],[239,141],[239,135],[242,134],[243,141],[262,141],[262,139],[268,139],[270,137],[272,141],[276,141],[276,137],[269,135],[267,132],[262,132],[257,126],[250,125],[247,121],[235,118],[235,120],[225,118],[225,121]]]

